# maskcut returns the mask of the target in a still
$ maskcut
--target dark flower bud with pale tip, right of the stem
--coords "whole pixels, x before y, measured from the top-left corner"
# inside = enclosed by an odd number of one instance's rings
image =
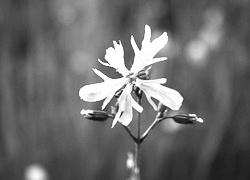
[[[173,116],[172,119],[179,124],[203,123],[203,119],[198,118],[196,114],[178,114]]]

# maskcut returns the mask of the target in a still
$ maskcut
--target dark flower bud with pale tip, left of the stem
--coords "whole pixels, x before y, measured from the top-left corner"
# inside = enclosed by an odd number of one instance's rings
[[[81,111],[81,114],[89,120],[93,121],[106,121],[108,118],[112,117],[112,115],[108,114],[106,111],[99,110],[85,110]]]

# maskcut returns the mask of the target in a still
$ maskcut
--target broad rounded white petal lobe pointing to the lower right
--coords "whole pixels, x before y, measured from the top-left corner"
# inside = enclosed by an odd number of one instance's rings
[[[142,82],[139,88],[147,96],[157,99],[172,110],[178,110],[182,105],[183,97],[178,91],[162,86],[159,83]]]

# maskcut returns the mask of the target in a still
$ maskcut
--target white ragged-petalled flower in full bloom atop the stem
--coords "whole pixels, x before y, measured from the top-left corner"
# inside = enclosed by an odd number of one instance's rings
[[[148,25],[145,26],[141,50],[138,48],[134,37],[131,36],[131,44],[135,52],[135,57],[130,70],[128,70],[124,64],[124,50],[121,42],[119,41],[118,44],[114,41],[114,48],[110,47],[106,50],[105,59],[107,63],[99,59],[98,61],[105,66],[116,69],[122,77],[111,79],[97,69],[93,69],[93,71],[104,81],[86,85],[79,91],[81,99],[88,102],[105,99],[102,105],[102,109],[104,109],[115,93],[122,89],[122,93],[118,98],[118,112],[113,120],[112,127],[114,127],[117,121],[125,126],[129,125],[133,117],[132,107],[140,113],[143,111],[143,108],[132,98],[131,92],[134,86],[140,88],[145,93],[147,100],[156,111],[157,106],[152,100],[152,97],[172,110],[178,110],[182,104],[183,98],[179,92],[161,85],[166,83],[167,79],[142,80],[138,77],[139,73],[145,71],[147,67],[167,59],[166,57],[154,58],[154,56],[167,44],[167,33],[164,32],[152,42],[150,39],[151,29]]]

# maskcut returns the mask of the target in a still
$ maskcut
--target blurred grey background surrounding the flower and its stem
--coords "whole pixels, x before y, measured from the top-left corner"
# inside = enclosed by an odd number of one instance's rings
[[[250,179],[249,0],[1,0],[1,180],[129,177],[132,140],[119,124],[84,119],[82,108],[102,102],[78,91],[101,81],[93,67],[118,77],[97,62],[113,40],[130,67],[130,36],[140,46],[145,24],[153,38],[169,35],[152,78],[168,78],[184,97],[179,112],[204,123],[157,126],[142,145],[142,179]],[[155,116],[144,107],[143,129]]]

